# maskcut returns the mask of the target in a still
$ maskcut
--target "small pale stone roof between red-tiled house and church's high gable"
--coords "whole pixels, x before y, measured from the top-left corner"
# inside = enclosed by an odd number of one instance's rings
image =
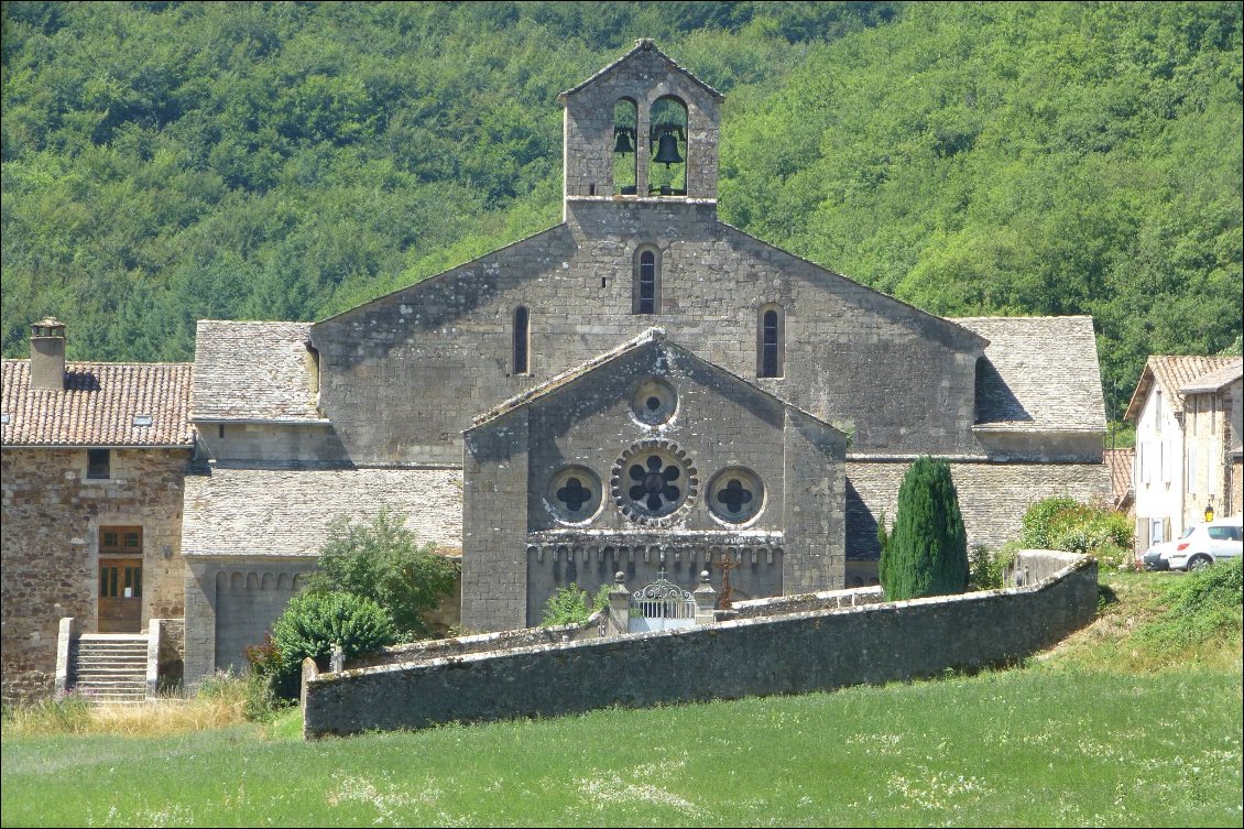
[[[311,390],[310,331],[310,322],[199,320],[190,419],[322,419]]]

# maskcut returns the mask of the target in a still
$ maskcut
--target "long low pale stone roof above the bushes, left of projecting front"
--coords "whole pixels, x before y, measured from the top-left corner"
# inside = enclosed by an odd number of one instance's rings
[[[407,515],[419,543],[462,549],[458,469],[235,469],[185,477],[185,555],[315,555],[342,517],[382,507]]]

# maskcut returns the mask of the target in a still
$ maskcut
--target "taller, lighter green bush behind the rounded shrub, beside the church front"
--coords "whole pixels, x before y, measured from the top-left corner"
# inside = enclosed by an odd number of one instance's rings
[[[307,592],[352,592],[371,599],[393,620],[398,641],[434,635],[423,614],[435,610],[457,583],[457,561],[419,546],[401,513],[382,509],[369,524],[333,524],[320,550]]]

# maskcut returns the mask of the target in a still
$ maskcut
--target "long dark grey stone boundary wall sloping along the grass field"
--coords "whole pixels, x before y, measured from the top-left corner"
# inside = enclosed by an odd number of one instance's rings
[[[1029,586],[532,645],[306,680],[304,734],[799,693],[1023,658],[1092,621],[1097,563]],[[1030,556],[1051,563],[1050,554]]]

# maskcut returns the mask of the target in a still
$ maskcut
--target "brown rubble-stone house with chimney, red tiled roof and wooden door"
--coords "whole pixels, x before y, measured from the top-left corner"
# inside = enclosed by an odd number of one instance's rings
[[[51,687],[57,622],[137,632],[180,617],[189,363],[65,361],[65,326],[32,326],[4,361],[4,696]]]

